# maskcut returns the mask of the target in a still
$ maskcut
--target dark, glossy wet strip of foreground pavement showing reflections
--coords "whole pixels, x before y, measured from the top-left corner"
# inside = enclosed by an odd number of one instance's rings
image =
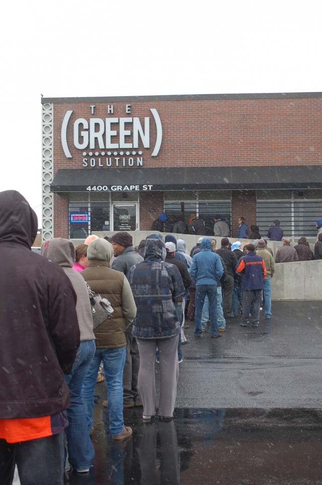
[[[176,409],[170,423],[142,423],[124,411],[133,438],[113,442],[108,414],[95,406],[96,450],[88,476],[66,484],[322,485],[321,409]]]

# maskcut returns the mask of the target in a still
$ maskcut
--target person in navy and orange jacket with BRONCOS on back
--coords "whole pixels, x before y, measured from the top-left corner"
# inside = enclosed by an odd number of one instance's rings
[[[243,315],[240,325],[247,327],[249,315],[252,314],[253,327],[258,327],[263,280],[266,276],[264,259],[255,252],[254,244],[246,246],[246,256],[239,259],[236,264],[237,273],[241,274],[241,286],[243,287]]]

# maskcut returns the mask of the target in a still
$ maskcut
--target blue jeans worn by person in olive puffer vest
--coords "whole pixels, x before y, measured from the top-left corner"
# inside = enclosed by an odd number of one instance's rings
[[[123,368],[126,347],[119,349],[97,349],[83,384],[82,397],[86,408],[88,430],[93,427],[94,394],[97,373],[103,362],[108,393],[108,413],[112,436],[123,431]]]

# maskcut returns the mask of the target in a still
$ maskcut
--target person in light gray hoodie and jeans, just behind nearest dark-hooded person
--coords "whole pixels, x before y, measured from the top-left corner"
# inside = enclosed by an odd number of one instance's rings
[[[65,375],[70,391],[70,407],[67,409],[69,426],[66,428],[68,461],[80,474],[87,474],[93,463],[95,451],[88,432],[85,405],[82,401],[83,382],[95,353],[92,309],[89,292],[81,274],[72,269],[75,248],[68,239],[54,238],[43,243],[41,253],[50,261],[58,263],[68,276],[77,296],[76,313],[81,332],[71,374]]]

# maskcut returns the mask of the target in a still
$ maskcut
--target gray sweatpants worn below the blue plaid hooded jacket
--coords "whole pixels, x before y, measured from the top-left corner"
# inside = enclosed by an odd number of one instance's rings
[[[173,416],[179,375],[178,338],[179,335],[170,338],[136,339],[140,354],[137,386],[145,416],[154,416],[156,410],[158,416]],[[161,373],[158,409],[156,408],[154,374],[156,348],[159,351]]]

